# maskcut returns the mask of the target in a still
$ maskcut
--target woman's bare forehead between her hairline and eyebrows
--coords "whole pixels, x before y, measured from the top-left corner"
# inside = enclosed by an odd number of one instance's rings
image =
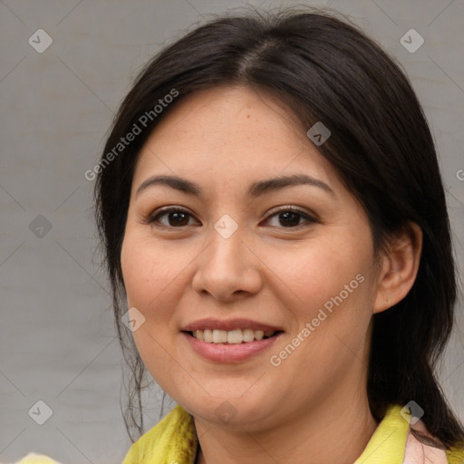
[[[243,184],[295,171],[337,180],[280,102],[244,87],[217,87],[190,94],[160,121],[142,147],[134,184],[154,172]]]

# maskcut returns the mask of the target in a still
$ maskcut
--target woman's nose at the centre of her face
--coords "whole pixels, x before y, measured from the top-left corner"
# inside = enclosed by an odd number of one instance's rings
[[[222,302],[259,292],[263,285],[261,261],[242,238],[239,228],[228,238],[213,229],[210,245],[198,256],[194,290]]]

